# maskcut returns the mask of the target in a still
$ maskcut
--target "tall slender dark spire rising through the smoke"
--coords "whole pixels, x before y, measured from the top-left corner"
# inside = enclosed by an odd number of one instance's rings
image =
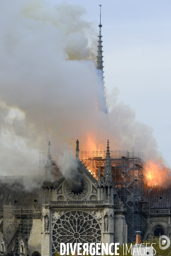
[[[104,76],[103,76],[103,73],[104,73],[104,71],[103,71],[103,55],[102,55],[102,53],[103,53],[103,51],[102,51],[102,45],[101,45],[101,43],[103,42],[102,40],[101,40],[101,38],[102,38],[102,35],[101,35],[101,27],[102,27],[102,25],[101,25],[101,4],[99,5],[100,6],[100,24],[99,24],[99,28],[100,28],[100,30],[99,30],[99,41],[98,41],[98,55],[97,55],[97,69],[98,69],[98,73],[99,73],[99,77],[100,77],[100,79],[101,79],[101,90],[102,90],[102,92],[103,92],[103,96],[102,96],[102,98],[101,99],[99,99],[99,104],[98,104],[98,110],[101,110],[101,111],[103,111],[104,113],[107,113],[107,108],[106,108],[106,97],[104,96]]]

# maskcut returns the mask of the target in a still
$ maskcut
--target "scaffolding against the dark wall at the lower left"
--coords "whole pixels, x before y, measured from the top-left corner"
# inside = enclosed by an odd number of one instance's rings
[[[16,207],[14,205],[3,206],[3,233],[11,251],[11,255],[19,252],[19,242],[24,239],[28,242],[32,228],[33,208]]]

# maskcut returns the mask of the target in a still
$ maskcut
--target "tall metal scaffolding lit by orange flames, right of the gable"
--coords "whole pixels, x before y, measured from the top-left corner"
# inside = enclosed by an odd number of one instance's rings
[[[103,176],[106,151],[80,152],[82,163],[97,179],[98,169]],[[143,183],[142,153],[110,151],[113,180],[119,197],[127,208],[128,242],[136,240],[136,231],[142,232],[142,205],[147,204]]]

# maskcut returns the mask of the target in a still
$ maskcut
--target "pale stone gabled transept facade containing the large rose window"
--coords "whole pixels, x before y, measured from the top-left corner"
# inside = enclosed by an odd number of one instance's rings
[[[83,188],[77,191],[64,178],[43,184],[41,255],[54,256],[61,242],[127,242],[126,209],[118,196],[114,200],[113,181],[105,175],[97,181],[81,163],[79,175]]]

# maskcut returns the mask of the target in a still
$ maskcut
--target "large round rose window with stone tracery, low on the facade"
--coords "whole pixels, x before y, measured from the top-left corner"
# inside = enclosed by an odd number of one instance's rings
[[[55,222],[52,231],[52,252],[60,251],[61,243],[100,243],[101,228],[98,221],[88,212],[64,213]]]

